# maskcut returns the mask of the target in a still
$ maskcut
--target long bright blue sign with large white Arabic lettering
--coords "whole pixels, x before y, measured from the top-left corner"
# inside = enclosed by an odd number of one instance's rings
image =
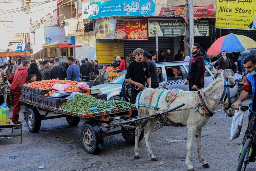
[[[125,0],[82,3],[83,19],[155,14],[155,0]]]

